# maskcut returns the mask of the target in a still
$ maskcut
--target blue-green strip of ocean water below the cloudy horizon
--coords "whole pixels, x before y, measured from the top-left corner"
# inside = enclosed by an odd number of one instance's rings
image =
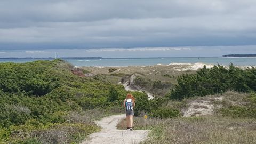
[[[53,60],[54,58],[0,58],[0,62],[30,62],[35,60]],[[256,57],[200,57],[200,58],[61,58],[74,66],[149,66],[168,65],[170,63],[204,63],[206,65],[256,66]]]

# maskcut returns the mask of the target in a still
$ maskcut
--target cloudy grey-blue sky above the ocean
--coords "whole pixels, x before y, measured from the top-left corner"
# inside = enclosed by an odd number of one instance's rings
[[[2,0],[0,57],[256,53],[255,0]]]

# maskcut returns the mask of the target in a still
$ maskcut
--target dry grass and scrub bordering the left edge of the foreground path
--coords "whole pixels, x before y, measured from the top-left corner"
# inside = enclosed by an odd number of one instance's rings
[[[21,107],[18,107],[19,109]],[[23,108],[22,108],[23,110]],[[39,143],[78,143],[89,134],[97,132],[100,127],[94,121],[102,117],[123,113],[123,108],[92,109],[87,111],[69,111],[63,115],[64,123],[35,123],[33,120],[25,125],[13,126],[11,143],[22,143],[34,138]],[[1,143],[1,142],[0,142]],[[32,141],[30,143],[35,143]]]

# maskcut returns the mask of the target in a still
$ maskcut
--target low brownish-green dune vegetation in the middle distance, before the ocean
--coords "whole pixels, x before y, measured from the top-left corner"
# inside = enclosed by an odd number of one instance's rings
[[[195,70],[177,71],[177,67],[187,66],[127,66],[116,67],[116,70],[109,73],[112,67],[83,67],[83,69],[95,74],[95,78],[104,82],[118,84],[122,80],[127,81],[132,75],[136,75],[134,85],[143,91],[150,92],[154,97],[164,97],[174,85],[177,84],[177,77],[182,74],[194,74]],[[122,82],[123,82],[122,81]]]

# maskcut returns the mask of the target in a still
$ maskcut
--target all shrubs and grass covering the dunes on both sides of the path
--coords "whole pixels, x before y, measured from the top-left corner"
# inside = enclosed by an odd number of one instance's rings
[[[148,100],[145,92],[131,92],[138,116],[134,128],[151,130],[145,143],[256,142],[255,68],[214,66],[183,75],[147,68],[149,73],[136,73],[134,84],[159,97]],[[127,91],[117,83],[133,71],[102,68],[105,73],[84,76],[91,69],[75,70],[59,59],[0,63],[0,143],[78,143],[100,131],[96,119],[123,113]],[[214,110],[182,117],[196,100],[207,101]],[[117,127],[125,129],[125,120]]]

